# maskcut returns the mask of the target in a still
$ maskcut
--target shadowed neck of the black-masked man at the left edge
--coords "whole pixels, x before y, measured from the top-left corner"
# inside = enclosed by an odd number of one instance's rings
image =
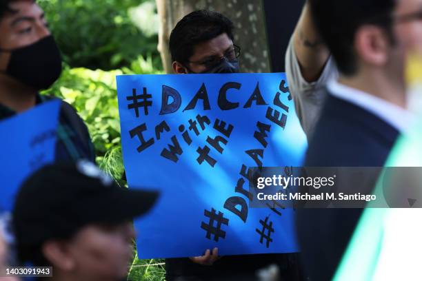
[[[34,107],[36,100],[36,90],[7,77],[0,77],[0,104],[15,112],[23,112]]]

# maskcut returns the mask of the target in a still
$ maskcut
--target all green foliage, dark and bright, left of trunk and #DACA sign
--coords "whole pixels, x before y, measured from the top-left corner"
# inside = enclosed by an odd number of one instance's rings
[[[154,0],[37,3],[45,10],[68,65],[43,94],[63,98],[77,110],[90,131],[97,164],[125,185],[115,76],[163,73],[157,32],[151,30],[157,21]],[[165,280],[163,260],[135,258],[128,280]]]

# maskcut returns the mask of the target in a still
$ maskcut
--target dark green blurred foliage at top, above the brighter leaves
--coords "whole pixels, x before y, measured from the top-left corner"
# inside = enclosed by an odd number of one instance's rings
[[[130,18],[130,8],[144,2],[153,4],[154,0],[37,1],[46,12],[66,63],[93,70],[123,67],[140,54],[151,54],[154,67],[161,67],[156,32],[142,32]],[[148,18],[154,16],[150,14],[154,10],[146,11]]]

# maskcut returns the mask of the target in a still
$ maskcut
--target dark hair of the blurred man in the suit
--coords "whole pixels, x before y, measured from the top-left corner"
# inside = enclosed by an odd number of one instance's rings
[[[362,25],[385,30],[394,43],[392,12],[395,0],[310,0],[312,17],[321,38],[328,46],[337,67],[344,75],[357,71],[354,37]]]

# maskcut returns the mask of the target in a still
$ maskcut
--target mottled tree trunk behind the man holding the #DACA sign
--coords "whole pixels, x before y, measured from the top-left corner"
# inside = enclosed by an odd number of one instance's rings
[[[241,72],[270,72],[263,0],[156,0],[161,27],[159,52],[165,72],[172,73],[168,50],[170,32],[177,21],[194,10],[221,12],[234,23],[234,43],[241,47]]]

